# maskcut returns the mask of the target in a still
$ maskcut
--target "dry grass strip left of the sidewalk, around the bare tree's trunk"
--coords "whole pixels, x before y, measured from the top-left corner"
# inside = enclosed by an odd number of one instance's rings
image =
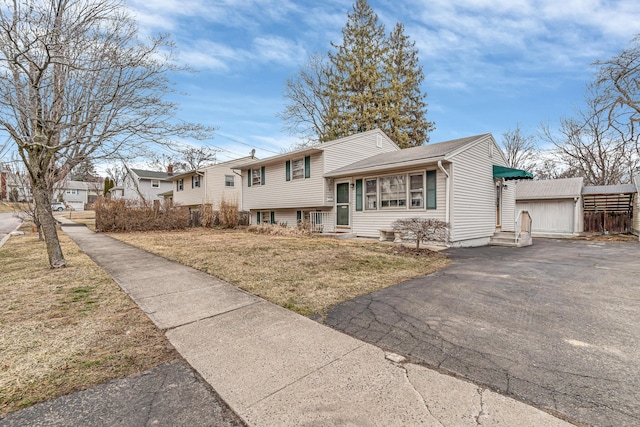
[[[0,414],[175,359],[164,335],[64,234],[49,269],[31,233],[0,249]]]

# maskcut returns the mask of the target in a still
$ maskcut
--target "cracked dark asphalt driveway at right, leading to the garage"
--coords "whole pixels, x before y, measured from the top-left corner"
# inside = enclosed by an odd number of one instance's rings
[[[433,275],[325,323],[597,426],[640,425],[640,244],[535,239],[451,249]]]

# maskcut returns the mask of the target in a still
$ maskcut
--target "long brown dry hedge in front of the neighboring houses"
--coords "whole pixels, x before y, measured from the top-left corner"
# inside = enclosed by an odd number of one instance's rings
[[[176,230],[189,226],[189,209],[160,202],[140,206],[131,200],[99,198],[95,203],[96,231]]]

